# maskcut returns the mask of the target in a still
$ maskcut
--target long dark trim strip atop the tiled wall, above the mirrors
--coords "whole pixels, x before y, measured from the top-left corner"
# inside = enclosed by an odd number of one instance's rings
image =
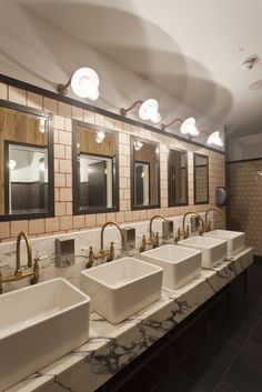
[[[104,109],[101,109],[101,108],[97,108],[94,105],[84,103],[82,101],[78,101],[75,99],[59,94],[59,93],[57,93],[54,91],[46,90],[46,89],[42,89],[40,87],[23,82],[21,80],[7,77],[6,74],[2,74],[2,73],[0,73],[0,82],[9,84],[9,86],[12,86],[12,87],[17,87],[18,89],[21,89],[21,90],[27,90],[27,91],[33,92],[36,94],[40,94],[40,96],[43,96],[43,97],[47,97],[47,98],[51,98],[53,100],[57,100],[57,101],[60,101],[60,102],[63,102],[63,103],[68,103],[68,104],[71,104],[71,105],[74,105],[74,107],[78,107],[78,108],[81,108],[81,109],[84,109],[84,110],[89,110],[89,111],[98,113],[98,114],[107,115],[107,117],[109,117],[111,119],[114,119],[114,120],[118,120],[118,121],[121,121],[121,122],[125,122],[125,123],[129,123],[129,124],[132,124],[132,125],[135,125],[135,127],[140,127],[140,128],[147,129],[149,131],[152,131],[152,132],[165,135],[165,137],[170,137],[170,138],[173,138],[175,140],[179,140],[179,141],[182,141],[182,142],[195,145],[195,147],[204,148],[206,150],[210,150],[210,151],[213,151],[213,152],[218,152],[218,153],[224,155],[224,151],[220,151],[220,150],[213,149],[212,147],[209,147],[206,144],[202,144],[202,143],[199,143],[199,142],[193,141],[193,140],[182,138],[182,137],[180,137],[178,134],[173,134],[173,133],[171,133],[169,131],[162,131],[159,128],[154,128],[154,127],[144,124],[143,122],[139,122],[139,121],[129,119],[127,117],[109,112],[108,110],[104,110]]]

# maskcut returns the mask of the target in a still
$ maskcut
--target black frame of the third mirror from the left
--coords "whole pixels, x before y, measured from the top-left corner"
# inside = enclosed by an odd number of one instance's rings
[[[155,149],[158,148],[157,152],[157,160],[158,160],[158,195],[159,195],[159,202],[157,204],[150,204],[150,205],[135,205],[134,204],[134,151],[133,151],[133,142],[135,140],[139,140],[143,143],[149,143],[155,145]],[[131,211],[137,211],[137,210],[153,210],[153,209],[159,209],[161,205],[161,179],[160,179],[160,143],[142,139],[139,137],[131,135],[130,137],[130,190],[131,190]]]

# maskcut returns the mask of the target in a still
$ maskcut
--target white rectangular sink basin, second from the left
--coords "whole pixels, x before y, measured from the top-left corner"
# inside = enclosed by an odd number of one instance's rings
[[[161,296],[163,270],[143,261],[123,258],[81,272],[81,290],[91,308],[113,324]]]

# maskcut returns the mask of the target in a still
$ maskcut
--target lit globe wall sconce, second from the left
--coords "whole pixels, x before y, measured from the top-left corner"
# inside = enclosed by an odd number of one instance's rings
[[[132,110],[134,107],[140,105],[139,117],[141,120],[150,120],[154,124],[161,121],[161,115],[159,113],[159,102],[155,99],[148,99],[147,101],[135,101],[130,108],[120,109],[121,115],[127,115],[127,113]]]

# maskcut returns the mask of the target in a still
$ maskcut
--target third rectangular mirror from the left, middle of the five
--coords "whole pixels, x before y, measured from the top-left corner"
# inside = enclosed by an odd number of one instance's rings
[[[131,138],[131,208],[160,207],[159,143]]]

